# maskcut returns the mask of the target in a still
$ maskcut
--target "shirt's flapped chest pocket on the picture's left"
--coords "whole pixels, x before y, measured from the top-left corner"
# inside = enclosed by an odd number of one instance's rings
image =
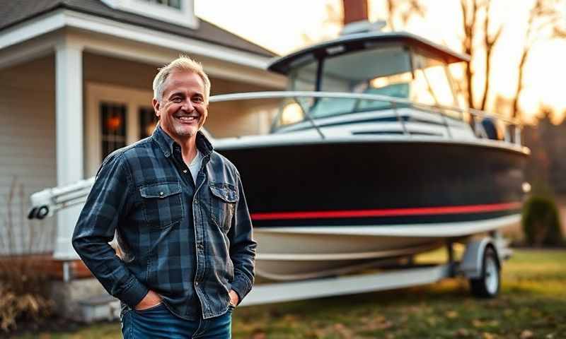
[[[183,219],[180,182],[149,184],[139,188],[147,225],[165,228]]]

